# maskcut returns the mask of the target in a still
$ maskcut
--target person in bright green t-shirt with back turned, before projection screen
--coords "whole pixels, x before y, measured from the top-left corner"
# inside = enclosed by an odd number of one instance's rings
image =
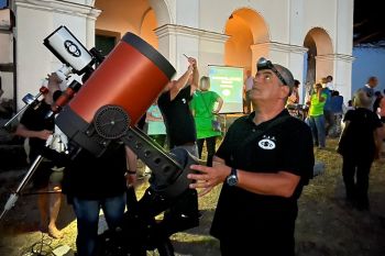
[[[218,102],[217,107],[216,103]],[[198,154],[201,158],[204,143],[207,147],[207,166],[212,166],[212,157],[216,153],[217,137],[221,132],[212,129],[212,120],[219,113],[223,104],[222,98],[215,91],[210,91],[210,78],[201,77],[199,90],[196,91],[190,103],[195,125],[197,129]]]

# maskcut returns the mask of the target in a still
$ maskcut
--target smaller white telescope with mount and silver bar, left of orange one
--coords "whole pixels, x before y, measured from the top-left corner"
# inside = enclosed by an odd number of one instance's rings
[[[75,96],[75,93],[80,89],[81,84],[77,80],[73,80],[69,86],[66,86],[66,82],[70,75],[77,74],[77,75],[84,75],[86,77],[89,77],[90,74],[94,71],[92,65],[99,65],[103,58],[100,56],[98,51],[92,48],[90,52],[88,52],[82,44],[69,32],[69,30],[65,26],[59,26],[57,30],[55,30],[51,35],[48,35],[43,44],[51,49],[51,52],[63,63],[63,66],[57,69],[55,73],[56,75],[62,79],[62,89],[65,89],[64,92],[58,97],[58,99],[52,104],[52,109],[48,113],[46,113],[46,118],[52,116],[53,114],[57,113],[62,110],[63,105],[68,103],[68,101]],[[42,86],[40,88],[40,92],[36,96],[32,96],[31,93],[28,93],[22,100],[25,103],[25,105],[15,114],[13,115],[4,125],[3,127],[9,126],[20,114],[22,114],[28,108],[37,105],[42,99],[41,96],[45,96],[48,93],[48,88],[45,86]],[[57,141],[65,141],[67,142],[67,138],[65,134],[55,125],[55,131],[59,131],[54,133],[50,136],[50,138],[46,142],[46,148],[56,151],[57,147],[55,144],[57,144]],[[64,145],[66,143],[59,143],[61,145]],[[63,147],[63,146],[61,146]],[[65,148],[67,148],[66,145],[64,145]],[[63,152],[66,152],[64,149]],[[62,152],[61,152],[62,153]],[[15,204],[16,200],[19,199],[19,196],[21,194],[22,190],[37,169],[40,163],[43,160],[44,156],[38,155],[33,164],[30,166],[29,170],[23,177],[23,180],[18,186],[16,190],[10,196],[9,200],[7,201],[4,205],[4,210],[0,214],[0,220],[4,216],[4,214]]]

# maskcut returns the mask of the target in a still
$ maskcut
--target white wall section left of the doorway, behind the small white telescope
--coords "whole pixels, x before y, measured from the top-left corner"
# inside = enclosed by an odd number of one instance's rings
[[[79,2],[77,2],[79,3]],[[90,7],[59,1],[16,0],[16,75],[18,107],[24,103],[21,98],[26,93],[36,94],[42,80],[55,71],[62,63],[43,45],[43,41],[58,26],[66,25],[86,46],[94,46],[95,38],[89,37],[88,30],[95,33],[94,20],[98,10]]]

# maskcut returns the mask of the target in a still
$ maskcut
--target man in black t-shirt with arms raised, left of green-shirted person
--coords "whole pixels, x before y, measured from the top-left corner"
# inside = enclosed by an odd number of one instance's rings
[[[179,79],[168,82],[157,104],[166,125],[169,149],[185,148],[198,157],[197,132],[189,102],[198,88],[199,73],[195,58],[189,57],[188,63],[186,73]],[[195,189],[190,189],[165,213],[165,219],[175,222],[174,220],[186,216],[196,219],[198,214],[198,194]]]

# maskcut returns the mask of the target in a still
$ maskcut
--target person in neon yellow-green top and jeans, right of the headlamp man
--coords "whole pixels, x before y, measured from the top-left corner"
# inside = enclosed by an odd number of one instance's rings
[[[324,148],[326,146],[326,131],[324,131],[324,115],[323,105],[327,99],[327,93],[322,90],[321,84],[314,86],[314,93],[310,96],[309,108],[309,125],[311,129],[312,141],[315,146]]]

